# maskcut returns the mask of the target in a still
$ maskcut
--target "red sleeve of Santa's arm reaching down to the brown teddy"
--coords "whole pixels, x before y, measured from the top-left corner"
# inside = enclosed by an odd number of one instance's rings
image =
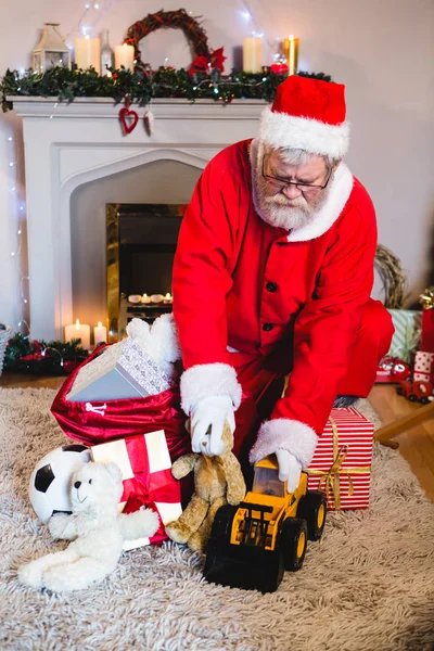
[[[238,221],[238,192],[226,150],[205,168],[182,219],[175,255],[174,316],[184,369],[228,362],[228,261]]]

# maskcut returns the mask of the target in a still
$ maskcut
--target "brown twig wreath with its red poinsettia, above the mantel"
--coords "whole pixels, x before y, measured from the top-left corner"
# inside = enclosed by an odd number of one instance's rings
[[[141,60],[140,41],[152,31],[156,31],[156,29],[161,29],[162,27],[182,29],[184,33],[195,58],[190,67],[191,75],[207,71],[208,68],[217,68],[220,73],[224,72],[224,61],[226,60],[224,49],[209,50],[205,30],[201,27],[197,20],[190,16],[184,9],[178,9],[178,11],[162,10],[148,14],[142,21],[137,21],[128,28],[124,42],[135,48],[136,72],[148,72],[148,65]]]

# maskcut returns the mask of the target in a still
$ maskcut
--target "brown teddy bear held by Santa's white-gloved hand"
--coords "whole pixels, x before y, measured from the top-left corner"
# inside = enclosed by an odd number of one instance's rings
[[[175,542],[187,542],[192,551],[205,550],[217,510],[227,503],[239,505],[246,493],[240,463],[231,451],[233,435],[228,423],[225,423],[222,442],[225,448],[220,457],[191,452],[171,467],[177,480],[194,472],[195,493],[178,520],[166,525],[166,534]]]

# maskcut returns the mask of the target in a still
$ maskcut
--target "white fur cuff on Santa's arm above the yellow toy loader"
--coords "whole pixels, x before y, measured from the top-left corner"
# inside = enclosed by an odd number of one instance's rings
[[[294,455],[303,468],[307,468],[314,457],[317,442],[318,436],[309,425],[288,418],[275,418],[260,425],[250,460],[256,463],[281,448]]]

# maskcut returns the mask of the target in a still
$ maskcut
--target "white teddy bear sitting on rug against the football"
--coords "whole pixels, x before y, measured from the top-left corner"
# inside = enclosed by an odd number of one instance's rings
[[[20,580],[60,592],[87,588],[113,572],[124,540],[153,536],[159,526],[152,509],[119,513],[122,494],[122,473],[115,463],[85,463],[72,478],[72,515],[60,513],[48,522],[53,538],[74,541],[64,551],[20,567]]]

